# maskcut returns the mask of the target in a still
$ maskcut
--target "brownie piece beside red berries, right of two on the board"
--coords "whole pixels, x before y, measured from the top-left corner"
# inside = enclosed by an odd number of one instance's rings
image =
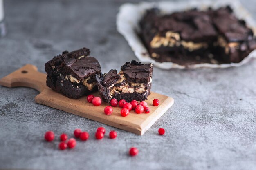
[[[96,77],[98,91],[104,102],[111,99],[125,99],[144,101],[150,95],[153,64],[141,64],[141,62],[126,62],[121,66],[121,71],[110,70],[104,75]]]

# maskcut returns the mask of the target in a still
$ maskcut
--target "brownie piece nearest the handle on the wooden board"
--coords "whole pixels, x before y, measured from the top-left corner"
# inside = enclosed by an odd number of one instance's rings
[[[96,75],[101,73],[97,59],[90,50],[64,51],[45,63],[46,84],[62,95],[78,99],[97,90]]]

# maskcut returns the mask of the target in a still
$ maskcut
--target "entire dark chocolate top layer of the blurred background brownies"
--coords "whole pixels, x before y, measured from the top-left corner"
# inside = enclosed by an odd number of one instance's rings
[[[147,15],[152,16],[155,11],[155,9],[150,10]],[[152,21],[148,22],[152,22],[153,30],[157,30],[162,35],[171,30],[180,33],[182,40],[186,41],[207,41],[208,38],[216,37],[220,32],[228,41],[234,42],[246,40],[250,34],[250,29],[235,17],[230,7],[208,11],[193,9],[164,16],[155,12],[155,17],[151,19]],[[142,24],[144,24],[143,21]]]

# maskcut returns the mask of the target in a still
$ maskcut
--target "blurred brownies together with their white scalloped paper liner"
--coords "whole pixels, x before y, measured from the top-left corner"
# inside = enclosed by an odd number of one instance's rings
[[[256,23],[237,0],[124,4],[117,30],[162,69],[227,68],[256,57]]]

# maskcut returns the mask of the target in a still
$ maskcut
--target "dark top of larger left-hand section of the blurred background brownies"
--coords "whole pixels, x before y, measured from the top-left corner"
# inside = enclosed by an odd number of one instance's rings
[[[158,15],[153,20],[154,29],[161,35],[171,30],[180,33],[182,40],[186,41],[200,42],[202,39],[207,41],[208,38],[217,35],[210,16],[204,11],[192,10],[165,16]]]

